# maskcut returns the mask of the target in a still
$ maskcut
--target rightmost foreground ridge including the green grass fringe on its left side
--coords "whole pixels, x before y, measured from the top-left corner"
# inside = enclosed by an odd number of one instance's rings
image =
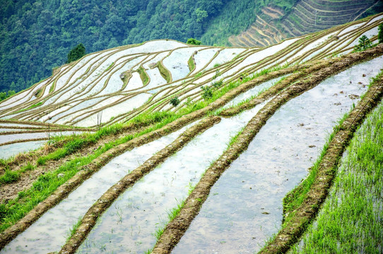
[[[285,253],[300,238],[326,199],[338,169],[338,162],[353,133],[382,96],[383,75],[380,73],[353,111],[334,128],[334,133],[307,179],[286,195],[283,200],[285,217],[282,229],[259,253]]]

